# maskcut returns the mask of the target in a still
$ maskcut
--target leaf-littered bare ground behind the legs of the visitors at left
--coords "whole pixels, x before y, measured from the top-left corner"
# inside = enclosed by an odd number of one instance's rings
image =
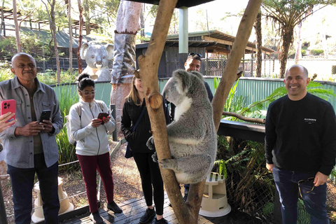
[[[118,136],[118,141],[122,139],[122,135]],[[110,148],[113,149],[118,142],[111,141]],[[118,149],[117,153],[111,159],[111,167],[114,181],[114,198],[115,202],[125,202],[130,199],[140,198],[143,196],[141,190],[141,179],[137,169],[137,165],[133,158],[126,159],[125,155],[126,144],[123,144]],[[85,185],[82,174],[79,171],[70,173],[59,173],[59,177],[63,179],[63,190],[70,197],[70,202],[74,208],[83,207],[87,205],[87,197],[85,193]],[[36,180],[37,181],[37,180]],[[97,183],[99,176],[97,175]],[[1,188],[3,193],[3,201],[6,207],[6,214],[8,224],[14,224],[14,211],[12,201],[12,190],[10,187],[9,177],[1,179]],[[36,194],[33,193],[34,200]],[[101,209],[106,207],[106,195],[102,184],[101,190]],[[34,203],[34,201],[32,202]],[[33,204],[34,207],[34,204]],[[33,211],[34,212],[34,211]]]

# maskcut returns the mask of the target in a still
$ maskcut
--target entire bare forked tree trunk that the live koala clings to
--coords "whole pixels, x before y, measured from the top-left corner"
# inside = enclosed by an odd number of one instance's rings
[[[146,54],[141,55],[138,59],[140,66],[139,76],[141,80],[143,80],[144,90],[146,92],[146,105],[148,107],[149,118],[151,119],[151,129],[153,131],[159,160],[171,158],[165,116],[162,109],[162,97],[158,87],[158,66],[167,38],[169,21],[172,19],[175,5],[176,0],[160,1],[151,42],[149,43]],[[216,130],[218,130],[219,127],[221,114],[228,93],[237,78],[236,71],[241,61],[241,57],[244,55],[248,36],[251,34],[253,22],[258,14],[260,5],[261,0],[250,0],[243,18],[241,19],[237,38],[212,103],[214,106]],[[183,203],[183,198],[179,190],[179,183],[176,181],[174,172],[169,169],[161,169],[161,174],[169,200],[172,202],[172,207],[179,223],[198,223],[197,218],[205,180],[190,186],[190,195],[185,204]]]

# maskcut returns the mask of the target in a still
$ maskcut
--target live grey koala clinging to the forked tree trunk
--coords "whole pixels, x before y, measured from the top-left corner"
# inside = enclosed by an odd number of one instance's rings
[[[198,183],[214,166],[217,152],[212,106],[202,74],[174,71],[162,95],[176,105],[175,120],[167,126],[172,159],[160,160],[164,169],[172,169],[179,183]],[[153,137],[147,146],[154,148]]]

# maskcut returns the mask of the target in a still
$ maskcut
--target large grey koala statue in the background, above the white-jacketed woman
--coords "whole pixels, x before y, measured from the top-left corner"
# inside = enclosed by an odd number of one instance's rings
[[[97,81],[111,80],[109,60],[113,59],[113,44],[106,45],[83,43],[80,47],[80,58],[87,64],[82,73],[87,73]]]

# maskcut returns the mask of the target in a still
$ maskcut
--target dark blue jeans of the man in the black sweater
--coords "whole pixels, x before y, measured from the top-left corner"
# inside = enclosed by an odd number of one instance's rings
[[[296,173],[274,167],[273,175],[276,188],[279,191],[283,224],[297,223],[297,198],[300,194],[298,182],[315,177],[316,172]],[[310,214],[311,224],[328,224],[326,210],[327,185],[314,187],[314,181],[300,183],[300,191],[304,207]],[[311,191],[307,193],[307,191]]]

